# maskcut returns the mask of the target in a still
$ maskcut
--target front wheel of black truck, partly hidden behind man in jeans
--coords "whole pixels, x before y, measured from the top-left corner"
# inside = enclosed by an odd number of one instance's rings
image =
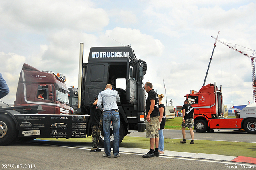
[[[122,142],[122,140],[124,139],[124,126],[122,124],[122,122],[120,122],[120,128],[119,128],[119,143]],[[113,148],[113,143],[114,143],[114,135],[113,135],[113,126],[112,126],[112,122],[110,124],[110,145],[111,148]],[[102,136],[102,133],[100,132],[100,141],[99,141],[99,145],[104,147],[104,136]]]

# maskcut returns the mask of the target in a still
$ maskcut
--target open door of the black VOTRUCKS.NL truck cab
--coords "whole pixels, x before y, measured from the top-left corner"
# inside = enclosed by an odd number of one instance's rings
[[[138,105],[138,86],[136,81],[136,65],[129,58],[127,58],[127,74],[126,74],[126,86],[127,86],[127,101],[131,104]]]

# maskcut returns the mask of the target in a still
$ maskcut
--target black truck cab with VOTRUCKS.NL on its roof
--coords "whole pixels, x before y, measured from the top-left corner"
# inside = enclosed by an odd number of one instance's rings
[[[129,46],[92,47],[88,63],[83,63],[81,112],[90,114],[88,108],[94,102],[94,96],[105,90],[106,84],[111,84],[121,99],[117,103],[120,140],[128,130],[145,132],[145,90],[142,79],[146,70],[146,62],[138,60]]]

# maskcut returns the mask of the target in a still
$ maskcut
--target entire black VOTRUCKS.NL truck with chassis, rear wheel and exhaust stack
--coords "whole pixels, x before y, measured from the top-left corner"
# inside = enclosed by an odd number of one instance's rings
[[[137,59],[130,46],[123,46],[92,47],[88,62],[83,63],[83,43],[80,43],[79,58],[77,112],[50,115],[37,114],[42,111],[41,106],[0,108],[0,146],[18,139],[90,136],[89,104],[95,95],[105,90],[106,84],[112,84],[121,99],[118,102],[120,142],[129,133],[128,130],[145,132],[146,98],[142,80],[147,70],[146,62]],[[100,137],[100,145],[104,146],[104,137]],[[112,136],[110,142],[113,142]]]

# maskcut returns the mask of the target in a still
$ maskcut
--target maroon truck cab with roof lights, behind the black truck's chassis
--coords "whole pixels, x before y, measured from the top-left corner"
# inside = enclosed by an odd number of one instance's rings
[[[69,114],[66,78],[60,74],[40,70],[23,64],[20,72],[15,106],[41,105],[38,114]]]

